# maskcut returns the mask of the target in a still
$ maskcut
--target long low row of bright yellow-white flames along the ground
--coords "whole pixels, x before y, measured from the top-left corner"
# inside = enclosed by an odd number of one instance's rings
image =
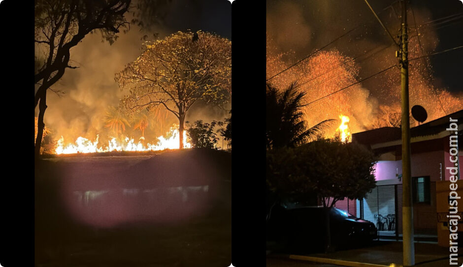
[[[115,137],[112,137],[106,147],[98,144],[99,136],[94,142],[87,138],[79,136],[74,144],[64,145],[64,138],[61,137],[58,140],[58,144],[55,148],[56,154],[73,154],[73,153],[95,153],[95,152],[110,152],[110,151],[155,151],[164,149],[178,149],[180,140],[178,126],[174,125],[170,128],[170,138],[164,136],[158,137],[159,142],[157,144],[147,143],[143,145],[141,140],[135,143],[133,139],[128,137],[125,138],[125,142],[118,142]],[[143,138],[141,138],[143,139]],[[183,132],[184,148],[191,148],[191,144],[186,142],[186,132]]]

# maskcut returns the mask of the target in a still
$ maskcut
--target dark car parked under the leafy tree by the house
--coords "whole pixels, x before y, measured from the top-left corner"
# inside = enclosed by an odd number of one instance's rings
[[[300,252],[363,246],[377,238],[375,225],[338,208],[275,206],[267,241]]]

